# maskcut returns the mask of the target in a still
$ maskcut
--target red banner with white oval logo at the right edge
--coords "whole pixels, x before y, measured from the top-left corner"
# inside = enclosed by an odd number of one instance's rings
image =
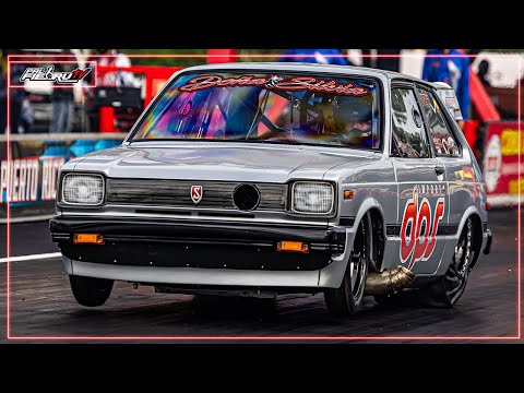
[[[519,146],[520,140],[520,146]],[[521,166],[519,167],[519,157]],[[514,196],[524,192],[524,132],[516,122],[488,126],[484,155],[484,177],[488,195]]]

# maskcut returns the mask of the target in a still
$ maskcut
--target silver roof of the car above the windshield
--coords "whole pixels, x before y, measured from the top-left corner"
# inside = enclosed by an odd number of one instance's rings
[[[300,62],[229,62],[194,66],[184,69],[184,71],[211,71],[211,70],[275,70],[275,71],[305,71],[305,72],[326,72],[337,73],[342,75],[362,75],[379,76],[382,75],[389,80],[408,80],[413,82],[424,83],[433,86],[432,83],[422,81],[418,78],[403,74],[400,72],[372,69],[367,67],[337,66],[337,64],[318,64],[318,63],[300,63]],[[433,86],[434,87],[434,86]]]

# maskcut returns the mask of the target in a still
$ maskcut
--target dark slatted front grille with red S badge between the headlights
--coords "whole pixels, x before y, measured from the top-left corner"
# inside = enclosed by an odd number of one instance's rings
[[[237,210],[233,194],[240,184],[242,182],[108,178],[107,203]],[[260,192],[257,210],[285,211],[287,184],[251,184]],[[191,186],[203,189],[202,200],[196,205],[191,200]]]

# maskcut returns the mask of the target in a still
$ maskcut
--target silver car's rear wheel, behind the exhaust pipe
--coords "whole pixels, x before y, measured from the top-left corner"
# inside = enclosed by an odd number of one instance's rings
[[[453,259],[445,274],[421,290],[420,302],[427,307],[451,308],[466,288],[472,261],[474,260],[474,224],[469,217],[464,225]]]

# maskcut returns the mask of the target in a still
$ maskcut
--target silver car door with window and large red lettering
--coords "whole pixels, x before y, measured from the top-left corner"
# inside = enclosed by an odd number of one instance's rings
[[[397,225],[400,263],[415,274],[437,271],[448,226],[445,169],[434,157],[420,112],[415,85],[393,84],[391,159],[398,187]],[[440,240],[440,241],[439,241]]]

